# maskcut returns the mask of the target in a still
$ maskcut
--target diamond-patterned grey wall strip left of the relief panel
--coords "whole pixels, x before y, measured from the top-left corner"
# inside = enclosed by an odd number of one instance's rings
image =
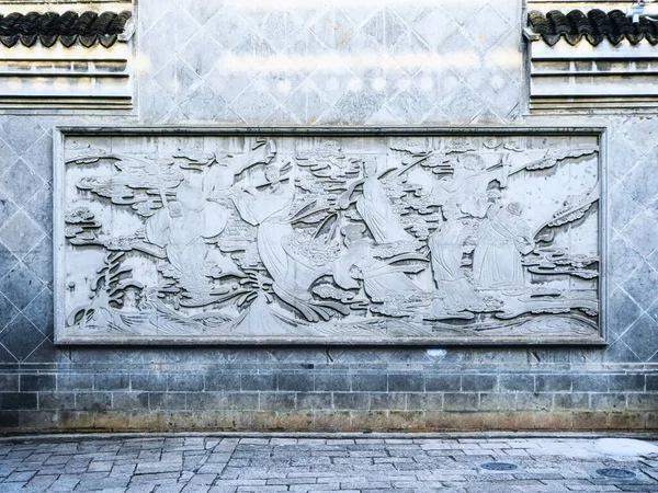
[[[52,145],[35,118],[0,121],[1,362],[25,360],[53,331]]]

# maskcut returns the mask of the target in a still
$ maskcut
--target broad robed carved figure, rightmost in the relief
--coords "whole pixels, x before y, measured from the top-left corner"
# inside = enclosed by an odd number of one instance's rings
[[[476,284],[480,289],[522,289],[522,254],[530,253],[534,244],[521,204],[494,204],[480,226],[473,255]]]

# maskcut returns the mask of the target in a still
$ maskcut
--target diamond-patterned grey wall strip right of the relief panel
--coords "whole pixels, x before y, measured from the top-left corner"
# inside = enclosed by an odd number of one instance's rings
[[[653,118],[627,118],[613,129],[609,142],[610,290],[628,298],[617,312],[614,300],[622,297],[613,296],[610,333],[620,334],[620,342],[640,362],[653,360],[658,352],[657,131]]]

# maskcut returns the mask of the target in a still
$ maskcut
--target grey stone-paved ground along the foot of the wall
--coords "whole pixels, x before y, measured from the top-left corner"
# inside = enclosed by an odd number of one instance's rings
[[[656,450],[595,437],[36,437],[0,440],[0,492],[658,492]]]

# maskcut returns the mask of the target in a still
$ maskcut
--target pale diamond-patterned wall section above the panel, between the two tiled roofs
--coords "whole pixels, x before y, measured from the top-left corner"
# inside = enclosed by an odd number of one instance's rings
[[[517,115],[515,18],[491,0],[290,10],[202,3],[162,2],[155,21],[139,16],[140,85],[162,89],[161,99],[143,95],[146,121],[404,125]]]

